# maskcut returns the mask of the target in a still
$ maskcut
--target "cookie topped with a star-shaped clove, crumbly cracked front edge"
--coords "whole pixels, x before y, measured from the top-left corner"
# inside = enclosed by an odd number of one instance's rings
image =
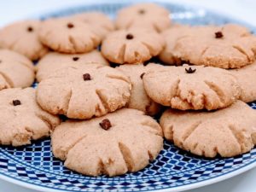
[[[225,108],[240,96],[236,79],[217,67],[163,67],[146,73],[143,84],[154,102],[181,110]]]

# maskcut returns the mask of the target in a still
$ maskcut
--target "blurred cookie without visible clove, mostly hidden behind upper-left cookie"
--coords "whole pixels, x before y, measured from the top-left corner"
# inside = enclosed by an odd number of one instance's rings
[[[88,12],[73,15],[74,19],[81,20],[84,23],[90,25],[92,28],[95,28],[95,32],[98,33],[102,38],[114,30],[113,21],[108,18],[107,15],[102,14],[101,12]]]

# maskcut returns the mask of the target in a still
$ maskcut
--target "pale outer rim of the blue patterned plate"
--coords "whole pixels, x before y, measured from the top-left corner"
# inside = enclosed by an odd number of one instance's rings
[[[140,1],[136,1],[136,0],[124,0],[124,1],[109,1],[109,2],[105,2],[105,1],[98,1],[98,2],[90,2],[90,3],[80,3],[80,4],[76,4],[70,7],[62,7],[61,9],[55,9],[55,10],[51,10],[51,11],[43,11],[42,13],[38,13],[38,14],[34,14],[29,16],[27,19],[31,19],[31,18],[40,18],[42,15],[54,15],[56,12],[62,12],[62,11],[66,11],[68,9],[76,9],[79,8],[79,6],[93,6],[93,5],[101,5],[101,4],[125,4],[125,3],[144,3],[144,2],[148,2],[147,0],[140,0]],[[207,11],[207,13],[212,14],[212,15],[219,15],[219,16],[223,16],[224,18],[227,18],[229,20],[234,20],[238,23],[241,23],[245,26],[250,27],[253,30],[256,30],[256,26],[253,26],[251,23],[248,23],[245,20],[239,20],[239,19],[233,19],[230,17],[230,15],[218,12],[218,11],[214,11],[212,9],[207,9],[207,8],[203,8],[201,6],[195,5],[195,4],[191,4],[191,3],[186,3],[185,5],[183,3],[179,3],[179,2],[168,2],[167,0],[153,0],[150,1],[152,3],[170,3],[170,4],[174,4],[174,5],[179,5],[179,6],[183,6],[183,7],[188,7],[190,9],[203,9],[205,11]],[[252,149],[253,150],[253,149]],[[240,175],[241,173],[247,172],[253,168],[256,168],[256,159],[253,160],[252,162],[250,162],[249,164],[247,164],[246,166],[242,166],[240,168],[237,168],[236,170],[230,171],[230,172],[226,172],[224,174],[222,174],[221,176],[214,176],[211,178],[208,178],[206,180],[202,180],[202,181],[197,181],[195,183],[189,183],[189,184],[185,184],[182,186],[177,186],[174,188],[168,188],[168,189],[152,189],[152,190],[147,190],[148,192],[177,192],[177,191],[183,191],[183,190],[188,190],[188,189],[197,189],[197,188],[201,188],[213,183],[218,183],[221,181],[224,181],[226,179],[229,179],[231,177],[236,177],[237,175]],[[43,191],[43,192],[67,192],[69,190],[64,190],[64,189],[53,189],[50,188],[48,186],[39,186],[37,184],[33,184],[33,183],[26,183],[25,181],[20,181],[18,180],[18,178],[16,177],[11,177],[8,175],[4,175],[2,172],[0,172],[0,179],[2,179],[5,182],[8,183],[13,183],[16,184],[18,186],[24,187],[26,189],[35,189],[38,191]]]

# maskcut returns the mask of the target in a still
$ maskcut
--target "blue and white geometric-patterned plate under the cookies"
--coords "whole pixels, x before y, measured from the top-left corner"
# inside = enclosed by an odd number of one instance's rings
[[[172,11],[172,20],[192,25],[241,23],[211,13],[205,9],[160,3]],[[83,11],[98,10],[114,17],[125,3],[102,3],[70,8],[43,15],[71,15]],[[244,24],[246,25],[246,24]],[[246,25],[248,26],[248,25]],[[253,27],[248,26],[251,30]],[[250,103],[256,109],[256,102]],[[250,153],[227,159],[204,159],[165,143],[154,162],[140,172],[120,177],[85,177],[71,172],[61,160],[53,157],[50,140],[32,143],[30,146],[0,147],[0,178],[41,191],[180,191],[216,183],[256,166],[256,148]]]

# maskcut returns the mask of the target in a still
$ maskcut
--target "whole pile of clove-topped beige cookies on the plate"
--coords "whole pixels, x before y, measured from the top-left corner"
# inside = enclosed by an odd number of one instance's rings
[[[141,3],[114,22],[90,12],[1,29],[0,143],[50,136],[55,157],[89,176],[137,172],[164,139],[212,158],[251,150],[256,37],[170,15]]]

